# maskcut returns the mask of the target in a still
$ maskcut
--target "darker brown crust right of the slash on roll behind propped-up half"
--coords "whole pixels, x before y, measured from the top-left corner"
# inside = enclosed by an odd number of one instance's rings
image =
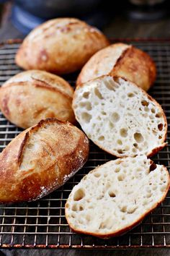
[[[110,74],[125,77],[147,91],[156,80],[156,66],[148,54],[131,46],[117,60]]]

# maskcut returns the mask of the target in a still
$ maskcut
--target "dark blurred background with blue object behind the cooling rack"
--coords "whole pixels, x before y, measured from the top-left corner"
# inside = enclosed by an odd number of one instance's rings
[[[169,38],[170,0],[0,0],[0,41],[45,20],[78,17],[110,38]]]

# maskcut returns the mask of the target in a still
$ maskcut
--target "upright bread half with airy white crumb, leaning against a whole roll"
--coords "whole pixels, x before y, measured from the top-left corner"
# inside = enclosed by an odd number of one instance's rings
[[[73,110],[89,139],[117,157],[153,155],[166,145],[161,106],[121,77],[103,76],[78,86]]]

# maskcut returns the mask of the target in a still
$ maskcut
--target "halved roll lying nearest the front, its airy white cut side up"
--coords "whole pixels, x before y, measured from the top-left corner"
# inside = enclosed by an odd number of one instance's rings
[[[166,167],[145,155],[109,161],[73,187],[66,219],[78,233],[104,239],[123,234],[164,200],[169,183]]]

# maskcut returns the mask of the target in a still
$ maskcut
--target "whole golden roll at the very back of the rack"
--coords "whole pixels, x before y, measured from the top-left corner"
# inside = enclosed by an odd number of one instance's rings
[[[23,69],[66,74],[81,69],[88,59],[109,45],[95,27],[74,18],[49,20],[24,39],[16,56]]]

